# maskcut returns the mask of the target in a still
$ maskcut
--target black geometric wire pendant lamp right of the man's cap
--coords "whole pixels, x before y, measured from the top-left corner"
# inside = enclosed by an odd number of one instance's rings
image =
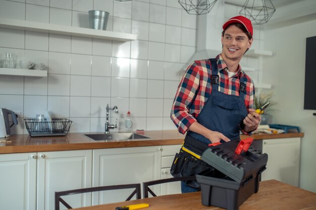
[[[253,24],[267,23],[276,11],[271,0],[247,0],[239,14],[249,18]]]

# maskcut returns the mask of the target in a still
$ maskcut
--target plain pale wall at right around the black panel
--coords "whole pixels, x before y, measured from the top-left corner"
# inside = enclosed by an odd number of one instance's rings
[[[265,30],[265,48],[274,56],[264,59],[264,81],[273,84],[278,102],[273,122],[299,126],[301,141],[300,187],[316,192],[315,110],[304,110],[306,38],[316,36],[316,20]],[[316,91],[316,88],[315,88]]]

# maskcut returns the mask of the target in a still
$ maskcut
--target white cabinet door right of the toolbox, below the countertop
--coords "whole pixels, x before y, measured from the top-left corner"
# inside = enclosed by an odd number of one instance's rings
[[[276,179],[298,186],[300,138],[278,138],[262,142],[262,152],[268,154],[268,163],[261,180]]]

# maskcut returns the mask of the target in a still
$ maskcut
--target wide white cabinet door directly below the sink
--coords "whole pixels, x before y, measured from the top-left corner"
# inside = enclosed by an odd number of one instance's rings
[[[92,185],[142,184],[160,179],[160,166],[159,146],[93,150]],[[124,201],[131,192],[131,189],[96,192],[92,204]]]

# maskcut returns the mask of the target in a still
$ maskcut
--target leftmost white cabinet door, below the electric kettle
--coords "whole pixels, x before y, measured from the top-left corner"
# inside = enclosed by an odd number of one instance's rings
[[[0,209],[36,207],[36,153],[0,155]]]

